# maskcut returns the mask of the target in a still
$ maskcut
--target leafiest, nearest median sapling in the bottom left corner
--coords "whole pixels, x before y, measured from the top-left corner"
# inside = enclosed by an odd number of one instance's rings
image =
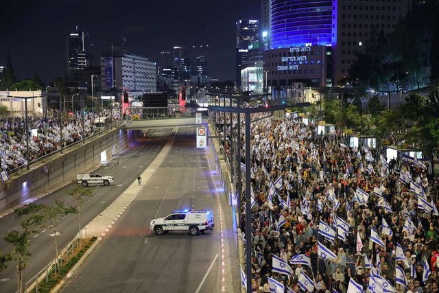
[[[20,293],[24,290],[25,268],[27,259],[31,256],[29,252],[31,236],[38,232],[36,228],[45,221],[39,213],[42,206],[43,204],[31,203],[15,209],[15,217],[21,220],[21,231],[10,231],[4,238],[5,242],[13,246],[10,257],[17,262],[17,288]]]

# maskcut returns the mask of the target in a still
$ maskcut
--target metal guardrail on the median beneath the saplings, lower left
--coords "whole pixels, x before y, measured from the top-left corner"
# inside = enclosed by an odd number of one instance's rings
[[[81,239],[86,239],[87,237],[87,228],[84,227],[81,230],[81,235],[84,235]],[[58,272],[58,266],[56,266],[56,261],[58,260],[58,264],[60,266],[60,269],[62,269],[63,265],[66,265],[69,262],[70,255],[73,255],[73,252],[75,249],[80,247],[80,238],[78,235],[69,243],[67,246],[61,251],[60,255],[58,256],[58,259],[54,259],[51,261],[43,270],[40,270],[38,274],[36,274],[34,277],[29,279],[25,283],[24,292],[31,292],[32,290],[36,290],[36,293],[38,293],[38,285],[43,282],[49,281],[49,276],[52,272]],[[16,293],[19,293],[19,291],[16,291]]]

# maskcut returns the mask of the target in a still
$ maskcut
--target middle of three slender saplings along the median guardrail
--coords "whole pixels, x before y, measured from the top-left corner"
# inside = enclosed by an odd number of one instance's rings
[[[64,215],[69,215],[71,213],[76,213],[75,207],[66,207],[64,202],[60,200],[56,200],[54,205],[43,205],[40,209],[41,215],[44,217],[44,222],[42,226],[45,228],[53,229],[54,231],[54,241],[55,241],[55,258],[56,258],[56,266],[58,270],[60,269],[60,263],[58,262],[58,225],[60,224],[60,220]]]

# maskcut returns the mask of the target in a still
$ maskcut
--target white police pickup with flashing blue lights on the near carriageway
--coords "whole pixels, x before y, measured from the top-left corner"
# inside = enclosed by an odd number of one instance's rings
[[[198,235],[206,230],[213,230],[213,211],[206,210],[177,210],[165,218],[151,221],[150,229],[157,235],[168,231],[189,231],[190,235]]]

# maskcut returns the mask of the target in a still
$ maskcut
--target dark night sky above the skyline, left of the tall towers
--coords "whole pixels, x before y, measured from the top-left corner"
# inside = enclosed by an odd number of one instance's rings
[[[14,0],[0,5],[0,66],[8,50],[18,80],[34,72],[48,84],[66,72],[66,34],[88,32],[99,65],[106,45],[126,38],[130,53],[158,62],[173,45],[209,45],[189,56],[209,58],[209,75],[235,79],[235,22],[259,19],[259,0]]]

